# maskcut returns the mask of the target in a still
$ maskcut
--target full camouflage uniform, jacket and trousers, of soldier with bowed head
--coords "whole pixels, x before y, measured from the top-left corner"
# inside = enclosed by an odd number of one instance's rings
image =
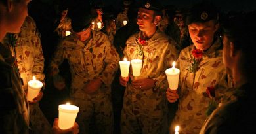
[[[100,31],[91,31],[91,38],[86,44],[72,34],[58,46],[51,68],[58,69],[64,58],[70,63],[72,74],[70,95],[74,105],[80,108],[77,115],[79,132],[90,133],[89,124],[94,121],[100,133],[112,133],[114,122],[110,88],[118,69],[116,48]],[[85,85],[96,78],[103,82],[102,86],[95,93],[86,94]]]

